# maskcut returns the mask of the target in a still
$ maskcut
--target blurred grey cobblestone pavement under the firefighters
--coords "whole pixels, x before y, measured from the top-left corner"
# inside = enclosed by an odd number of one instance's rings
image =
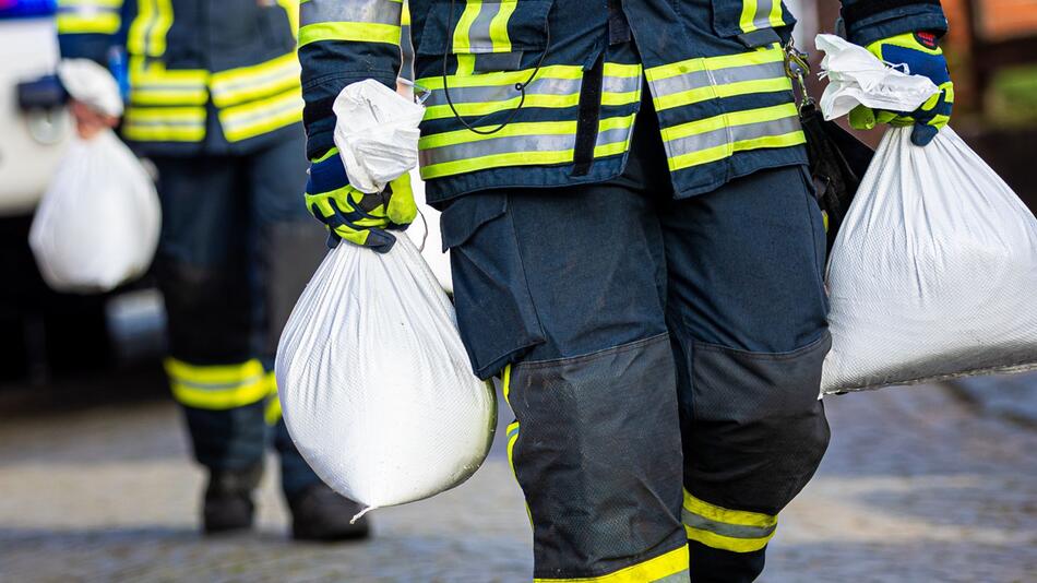
[[[1037,431],[942,386],[826,404],[832,445],[763,581],[1037,581]],[[168,403],[0,423],[0,581],[528,580],[502,439],[460,488],[376,511],[370,542],[296,545],[273,472],[257,533],[199,537],[202,474],[179,423]]]

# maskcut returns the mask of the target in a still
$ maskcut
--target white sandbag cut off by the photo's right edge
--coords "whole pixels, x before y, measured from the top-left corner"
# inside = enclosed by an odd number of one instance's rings
[[[832,250],[824,393],[1037,368],[1037,219],[951,128],[910,133],[886,132]]]

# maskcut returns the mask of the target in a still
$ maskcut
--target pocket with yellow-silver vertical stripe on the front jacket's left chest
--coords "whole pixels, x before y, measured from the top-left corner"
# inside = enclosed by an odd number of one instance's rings
[[[458,71],[517,70],[526,51],[547,49],[548,13],[553,4],[555,0],[436,2],[417,55],[453,55]]]

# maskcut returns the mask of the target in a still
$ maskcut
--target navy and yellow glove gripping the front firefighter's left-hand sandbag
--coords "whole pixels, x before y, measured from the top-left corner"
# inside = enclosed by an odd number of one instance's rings
[[[306,206],[331,231],[329,247],[345,239],[379,253],[389,251],[396,242],[388,229],[407,228],[418,213],[409,174],[393,180],[380,193],[361,192],[349,185],[336,147],[310,163]]]

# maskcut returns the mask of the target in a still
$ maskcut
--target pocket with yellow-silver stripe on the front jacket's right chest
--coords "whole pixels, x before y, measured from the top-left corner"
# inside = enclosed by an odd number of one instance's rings
[[[782,0],[713,0],[713,28],[748,48],[780,43],[796,24]]]

